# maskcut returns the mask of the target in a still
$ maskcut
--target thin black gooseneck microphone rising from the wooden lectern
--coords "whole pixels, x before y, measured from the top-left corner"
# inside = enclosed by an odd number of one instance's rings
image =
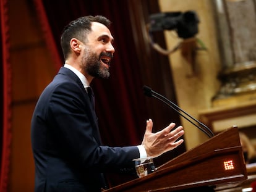
[[[164,102],[165,104],[167,104],[169,107],[173,108],[174,111],[176,111],[179,115],[181,115],[182,117],[184,117],[186,120],[188,120],[190,123],[192,123],[195,127],[197,127],[199,130],[203,131],[203,133],[205,133],[209,138],[213,137],[214,134],[213,132],[210,130],[210,128],[208,128],[206,125],[204,125],[202,122],[200,122],[199,120],[195,119],[194,117],[192,117],[191,115],[187,114],[186,111],[182,110],[179,106],[177,106],[176,104],[174,104],[174,102],[170,101],[169,99],[167,99],[166,97],[164,97],[163,95],[156,93],[155,91],[151,90],[150,87],[148,86],[143,86],[143,90],[144,90],[144,94],[148,97],[153,97],[156,99],[159,99],[160,101]],[[183,113],[183,114],[182,114]],[[187,117],[185,115],[187,115]],[[189,119],[189,118],[190,119]],[[194,122],[192,120],[194,120]],[[200,126],[198,126],[195,122],[197,122]]]

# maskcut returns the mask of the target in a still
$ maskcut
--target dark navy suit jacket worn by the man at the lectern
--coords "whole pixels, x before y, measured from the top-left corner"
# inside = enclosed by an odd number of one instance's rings
[[[102,172],[134,167],[136,146],[102,146],[98,123],[82,82],[61,67],[32,117],[35,191],[100,191]]]

